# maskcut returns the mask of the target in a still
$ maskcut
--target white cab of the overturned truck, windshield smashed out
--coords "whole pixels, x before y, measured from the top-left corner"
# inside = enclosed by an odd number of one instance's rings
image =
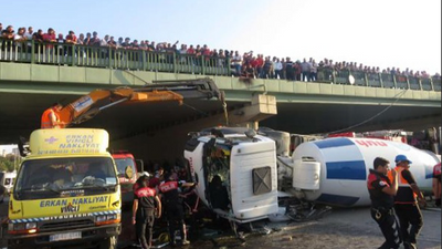
[[[220,217],[244,224],[278,211],[273,139],[248,128],[215,127],[193,134],[185,158],[201,201]]]

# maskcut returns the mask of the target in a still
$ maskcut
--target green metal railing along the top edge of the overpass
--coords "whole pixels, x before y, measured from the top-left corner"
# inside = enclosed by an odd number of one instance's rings
[[[0,38],[0,61],[71,66],[112,68],[202,75],[232,75],[229,58],[196,56],[177,52],[115,49],[69,43],[12,41]],[[440,79],[424,79],[390,73],[317,68],[317,82],[388,89],[441,91]]]

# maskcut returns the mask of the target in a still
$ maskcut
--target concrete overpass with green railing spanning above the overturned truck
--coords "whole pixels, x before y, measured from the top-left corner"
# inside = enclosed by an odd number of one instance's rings
[[[277,115],[260,125],[291,133],[327,133],[355,125],[351,131],[356,132],[441,125],[441,81],[434,79],[319,69],[317,82],[255,79],[244,83],[231,76],[230,66],[224,66],[228,59],[222,65],[218,58],[148,51],[105,53],[101,48],[62,46],[51,52],[45,44],[23,48],[24,43],[21,50],[3,43],[0,49],[0,144],[29,136],[39,128],[42,112],[54,102],[67,104],[95,89],[204,76],[225,92],[233,123],[248,118],[243,107],[253,96],[266,94],[276,97]],[[168,152],[179,155],[187,132],[224,124],[220,102],[185,103],[122,104],[81,126],[107,129],[110,146],[130,148],[135,154],[157,152],[158,144],[166,143]],[[143,146],[134,148],[134,144]]]

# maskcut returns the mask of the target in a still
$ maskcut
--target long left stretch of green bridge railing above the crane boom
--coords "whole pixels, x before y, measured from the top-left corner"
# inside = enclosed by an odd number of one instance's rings
[[[0,61],[231,75],[229,58],[4,39],[0,39]]]

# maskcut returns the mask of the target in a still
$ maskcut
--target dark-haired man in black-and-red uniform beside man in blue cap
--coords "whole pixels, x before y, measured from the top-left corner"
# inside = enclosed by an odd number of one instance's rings
[[[379,225],[386,241],[379,249],[399,248],[401,237],[399,225],[394,216],[394,195],[398,191],[398,175],[389,170],[390,162],[376,157],[373,168],[367,178],[367,188],[371,199],[371,217]],[[387,173],[390,173],[392,180]]]

